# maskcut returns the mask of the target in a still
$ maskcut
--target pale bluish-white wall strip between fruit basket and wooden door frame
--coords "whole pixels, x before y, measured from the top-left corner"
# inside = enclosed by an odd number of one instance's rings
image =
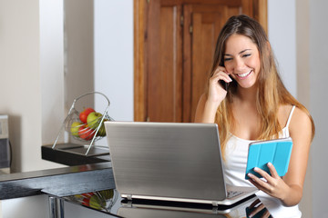
[[[133,121],[133,0],[95,1],[95,90],[112,118]],[[98,110],[103,102],[96,98]]]

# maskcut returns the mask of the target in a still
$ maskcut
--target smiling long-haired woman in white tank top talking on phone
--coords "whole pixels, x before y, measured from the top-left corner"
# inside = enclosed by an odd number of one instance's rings
[[[297,204],[302,199],[313,119],[282,84],[267,35],[251,17],[232,16],[220,31],[208,89],[200,97],[195,122],[219,125],[226,183],[255,185],[267,197],[279,200],[279,210],[301,216]],[[246,181],[248,145],[288,136],[293,142],[288,173],[280,177],[268,163],[271,175],[255,169],[265,180],[249,174],[251,179]]]

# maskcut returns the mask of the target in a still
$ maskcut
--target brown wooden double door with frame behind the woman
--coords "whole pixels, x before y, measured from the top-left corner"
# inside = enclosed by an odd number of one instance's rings
[[[263,5],[255,0],[142,2],[135,1],[135,121],[192,122],[220,28],[231,15],[265,17],[259,10]]]

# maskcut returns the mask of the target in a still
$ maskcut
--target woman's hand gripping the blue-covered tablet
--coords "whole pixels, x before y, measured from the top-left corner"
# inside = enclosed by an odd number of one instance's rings
[[[271,175],[260,168],[255,167],[254,171],[261,174],[264,180],[254,174],[248,173],[248,176],[251,178],[249,181],[264,193],[268,193],[272,197],[283,200],[285,198],[285,194],[288,193],[286,191],[289,186],[283,182],[272,163],[267,163],[267,166],[269,167]]]

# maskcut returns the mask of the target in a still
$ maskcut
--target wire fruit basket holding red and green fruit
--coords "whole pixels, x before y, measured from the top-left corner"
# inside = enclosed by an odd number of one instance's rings
[[[89,114],[92,113],[92,116],[87,116],[84,121],[81,121],[80,114],[81,111],[77,110],[77,103],[81,101],[82,98],[87,97],[90,94],[100,94],[103,96],[106,102],[106,108],[105,111],[102,113],[96,112],[92,108],[87,108],[91,110]],[[73,104],[71,105],[69,112],[67,114],[67,117],[65,118],[59,133],[57,134],[56,141],[54,145],[52,146],[53,149],[56,148],[57,141],[60,137],[60,135],[66,131],[70,137],[72,137],[75,141],[80,142],[81,144],[87,143],[87,151],[85,155],[89,154],[90,149],[92,146],[96,146],[95,142],[100,140],[101,138],[106,136],[106,130],[105,130],[105,121],[114,121],[113,118],[111,118],[108,115],[108,109],[109,109],[109,99],[105,94],[98,93],[98,92],[90,92],[87,94],[82,94],[74,99]],[[87,110],[85,108],[85,110]],[[98,145],[97,145],[98,146]]]

